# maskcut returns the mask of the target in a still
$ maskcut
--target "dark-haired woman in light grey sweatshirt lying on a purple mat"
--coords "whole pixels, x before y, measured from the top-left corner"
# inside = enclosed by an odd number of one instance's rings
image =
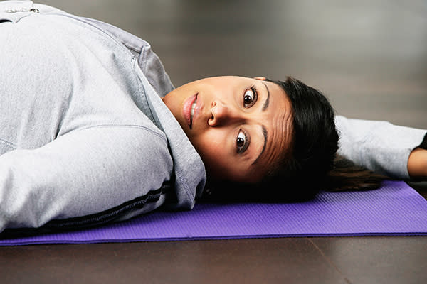
[[[174,89],[144,40],[31,1],[0,2],[0,42],[0,231],[93,226],[204,198],[302,200],[352,188],[339,176],[365,172],[343,175],[347,165],[334,164],[335,121],[346,158],[426,177],[426,151],[416,148],[426,131],[334,118],[322,94],[291,77]],[[370,177],[367,188],[377,185]]]

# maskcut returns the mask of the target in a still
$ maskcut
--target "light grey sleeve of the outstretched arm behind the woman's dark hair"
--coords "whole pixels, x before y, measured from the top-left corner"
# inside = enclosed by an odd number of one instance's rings
[[[387,121],[335,116],[339,133],[338,154],[369,170],[391,178],[409,179],[408,158],[427,130],[396,126]]]

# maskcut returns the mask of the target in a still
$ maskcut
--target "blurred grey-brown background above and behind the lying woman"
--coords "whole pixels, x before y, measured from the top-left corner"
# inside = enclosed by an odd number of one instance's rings
[[[292,75],[338,114],[427,128],[427,1],[41,0],[151,43],[175,86]]]

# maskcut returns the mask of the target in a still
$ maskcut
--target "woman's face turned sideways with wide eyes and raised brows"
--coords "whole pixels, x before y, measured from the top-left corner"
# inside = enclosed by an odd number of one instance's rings
[[[290,147],[290,101],[277,84],[262,79],[210,77],[163,98],[209,178],[258,182]]]

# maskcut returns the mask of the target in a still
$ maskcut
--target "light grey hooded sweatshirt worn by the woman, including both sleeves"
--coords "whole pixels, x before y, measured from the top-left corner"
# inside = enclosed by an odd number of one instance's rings
[[[0,2],[0,232],[67,229],[191,209],[204,164],[161,97],[150,45],[31,1]],[[336,118],[339,153],[408,178],[426,131]]]

